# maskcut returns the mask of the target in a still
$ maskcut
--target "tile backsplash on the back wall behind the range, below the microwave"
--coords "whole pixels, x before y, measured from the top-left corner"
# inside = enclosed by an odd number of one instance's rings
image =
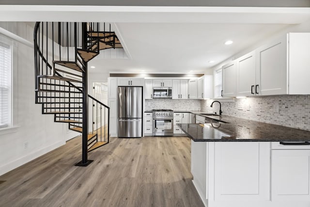
[[[177,100],[170,98],[154,98],[145,100],[145,110],[152,109],[171,109],[171,110],[186,110],[199,111],[200,100]]]

